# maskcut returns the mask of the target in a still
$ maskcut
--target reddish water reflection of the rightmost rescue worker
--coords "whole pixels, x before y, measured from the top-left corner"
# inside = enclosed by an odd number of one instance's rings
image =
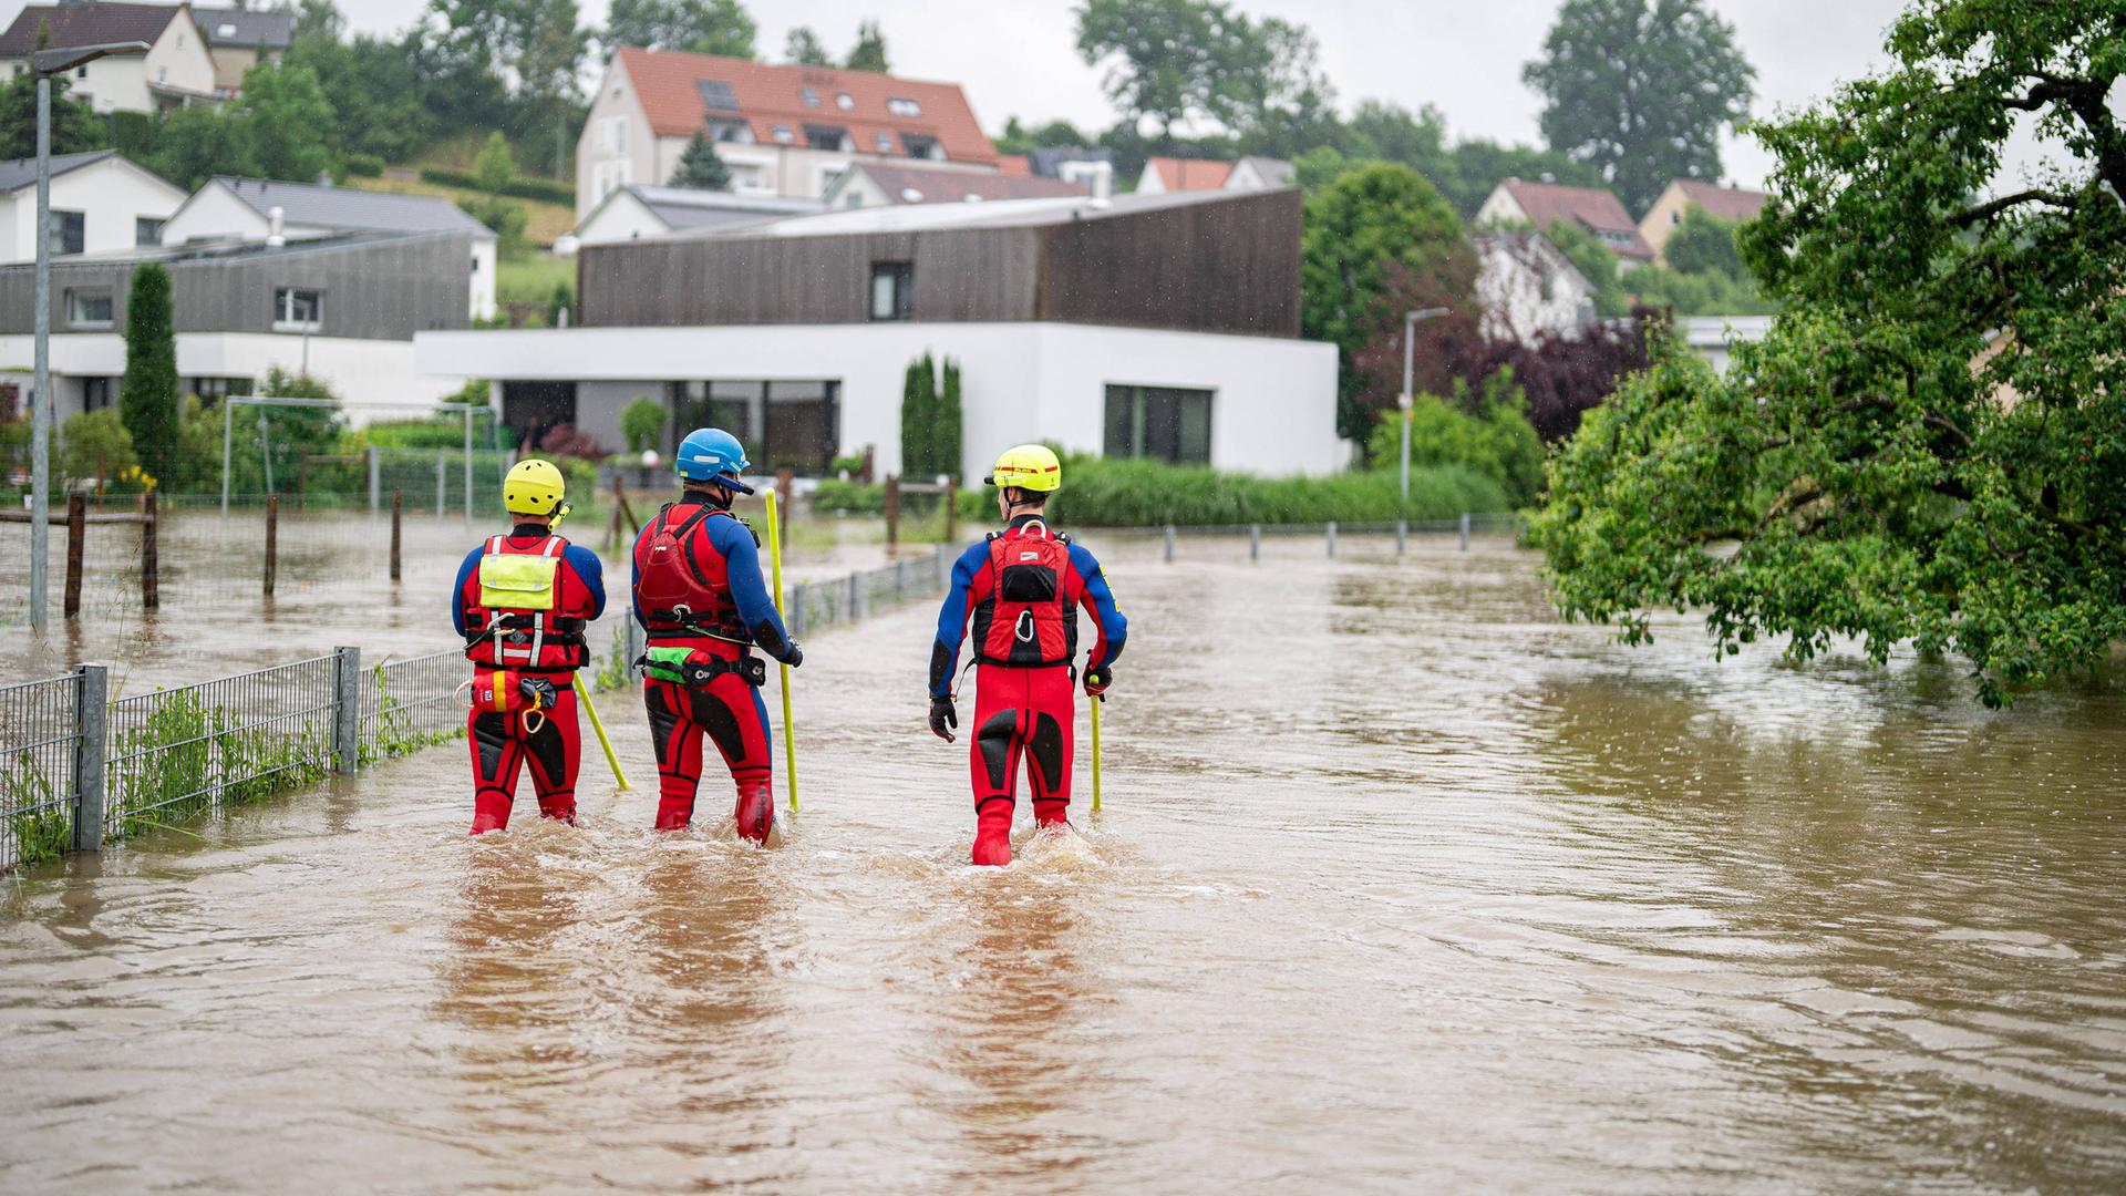
[[[1091,996],[1074,951],[1084,917],[1074,904],[1086,894],[1076,883],[1042,883],[1052,877],[1040,877],[1040,864],[1035,849],[1014,875],[984,877],[965,894],[974,936],[955,951],[965,983],[942,1009],[940,1036],[944,1066],[974,1087],[948,1104],[974,1156],[959,1181],[1037,1177],[1052,1185],[1101,1149],[1057,1126],[1061,1111],[1097,1100],[1097,1081],[1059,1047]]]

